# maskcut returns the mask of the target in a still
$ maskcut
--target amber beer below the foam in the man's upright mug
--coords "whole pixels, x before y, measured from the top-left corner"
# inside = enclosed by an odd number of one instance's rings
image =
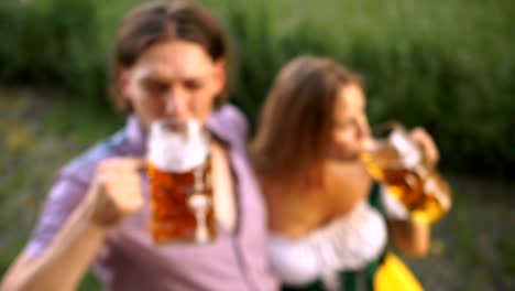
[[[152,211],[150,229],[154,241],[212,240],[216,229],[209,160],[185,173],[164,172],[152,163],[147,168]]]

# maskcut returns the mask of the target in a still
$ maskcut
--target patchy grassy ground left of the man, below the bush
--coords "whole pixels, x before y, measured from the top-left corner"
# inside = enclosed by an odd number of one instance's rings
[[[45,103],[42,96],[0,90],[0,278],[25,247],[54,174],[122,125],[120,117],[57,96],[45,96]],[[79,290],[100,290],[100,284],[88,273]]]

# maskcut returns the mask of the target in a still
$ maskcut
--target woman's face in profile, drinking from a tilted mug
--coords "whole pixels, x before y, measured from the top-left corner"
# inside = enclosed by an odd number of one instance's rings
[[[363,142],[370,137],[365,114],[365,97],[358,85],[342,86],[336,98],[335,126],[330,157],[339,160],[357,160]]]

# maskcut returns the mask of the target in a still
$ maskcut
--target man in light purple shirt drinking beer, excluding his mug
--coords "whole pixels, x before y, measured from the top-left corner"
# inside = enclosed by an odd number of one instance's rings
[[[231,57],[221,23],[191,1],[153,1],[128,13],[112,60],[127,126],[61,171],[1,290],[75,290],[92,262],[106,290],[276,289],[246,121],[226,104]],[[178,130],[195,120],[211,133],[219,231],[210,244],[151,239],[149,183],[139,169],[158,119]]]

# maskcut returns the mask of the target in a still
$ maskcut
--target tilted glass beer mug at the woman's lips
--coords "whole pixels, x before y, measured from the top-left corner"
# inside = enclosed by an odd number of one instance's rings
[[[374,129],[361,155],[369,173],[384,183],[417,222],[434,223],[451,208],[448,183],[397,122]]]

